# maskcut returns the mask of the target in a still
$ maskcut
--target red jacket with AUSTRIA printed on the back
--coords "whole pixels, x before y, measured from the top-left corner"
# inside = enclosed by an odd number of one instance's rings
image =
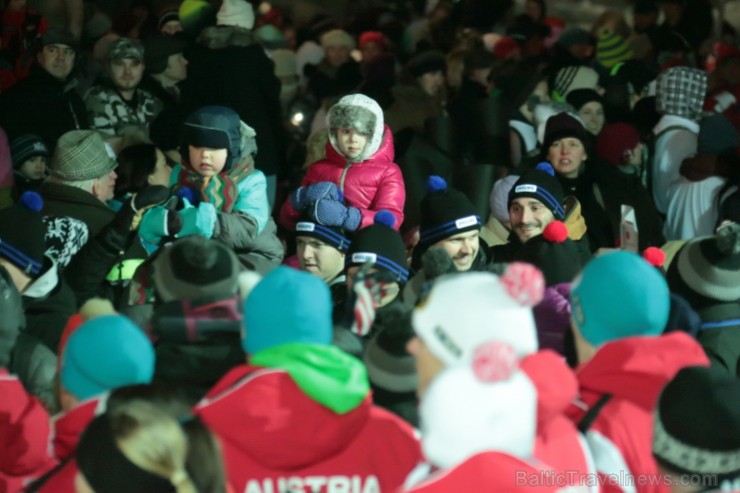
[[[336,414],[284,370],[234,368],[195,413],[220,439],[235,491],[391,492],[421,459],[411,426],[369,394]]]

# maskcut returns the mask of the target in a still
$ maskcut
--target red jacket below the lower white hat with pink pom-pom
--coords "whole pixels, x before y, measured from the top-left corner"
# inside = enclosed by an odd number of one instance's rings
[[[482,452],[404,489],[408,493],[555,492],[557,478],[547,466],[502,452]]]

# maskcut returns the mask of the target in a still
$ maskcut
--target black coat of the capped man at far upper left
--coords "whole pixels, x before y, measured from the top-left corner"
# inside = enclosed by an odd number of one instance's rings
[[[24,134],[39,135],[50,151],[70,130],[89,128],[74,79],[62,82],[40,66],[0,96],[0,127],[13,140]]]

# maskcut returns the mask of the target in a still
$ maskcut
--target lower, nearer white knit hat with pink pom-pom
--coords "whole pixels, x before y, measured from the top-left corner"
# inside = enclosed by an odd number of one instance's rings
[[[421,402],[424,455],[441,468],[485,451],[531,457],[537,391],[514,349],[486,343],[470,356],[445,369]]]

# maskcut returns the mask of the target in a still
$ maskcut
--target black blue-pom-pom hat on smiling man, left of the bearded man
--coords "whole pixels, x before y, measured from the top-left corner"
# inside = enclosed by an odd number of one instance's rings
[[[480,230],[478,210],[464,193],[447,186],[441,176],[430,176],[421,199],[420,244],[429,246],[450,236]]]

